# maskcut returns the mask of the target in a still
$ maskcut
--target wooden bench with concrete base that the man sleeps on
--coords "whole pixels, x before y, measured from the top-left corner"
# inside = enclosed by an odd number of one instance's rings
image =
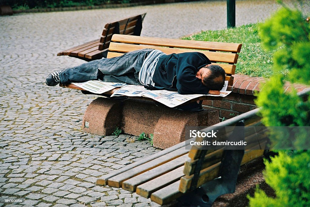
[[[228,85],[232,86],[233,75],[236,69],[235,64],[239,57],[237,53],[240,53],[241,46],[242,44],[236,43],[114,34],[108,48],[107,57],[117,57],[130,51],[145,48],[159,49],[166,54],[200,52],[204,53],[212,64],[217,64],[224,68]],[[74,84],[62,87],[78,89],[82,90],[83,93],[90,94]],[[100,95],[109,97],[113,94],[113,91]],[[141,101],[140,99],[145,100]],[[89,133],[109,135],[113,133],[115,126],[121,126],[124,133],[132,135],[139,135],[141,132],[153,133],[154,146],[165,149],[184,141],[186,125],[211,126],[219,123],[217,111],[202,109],[202,100],[206,99],[220,100],[221,97],[202,96],[198,99],[193,99],[193,102],[188,103],[186,106],[181,106],[181,109],[194,108],[196,111],[200,110],[195,113],[161,107],[158,102],[144,97],[130,98],[124,101],[100,97],[91,102],[87,107],[83,117],[82,129]],[[197,103],[198,100],[199,103]],[[141,117],[144,118],[141,119]],[[168,128],[167,125],[173,127]],[[166,137],[170,137],[170,139],[166,139]]]

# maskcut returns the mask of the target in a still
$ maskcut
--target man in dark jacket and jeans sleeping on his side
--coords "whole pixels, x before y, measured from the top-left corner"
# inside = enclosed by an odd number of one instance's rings
[[[198,52],[172,53],[141,49],[119,57],[103,58],[77,67],[55,71],[46,78],[48,86],[89,80],[143,85],[150,90],[178,91],[180,94],[219,95],[225,71]]]

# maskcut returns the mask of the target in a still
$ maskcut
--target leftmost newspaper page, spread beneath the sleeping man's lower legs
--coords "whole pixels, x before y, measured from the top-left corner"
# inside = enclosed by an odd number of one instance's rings
[[[114,88],[123,87],[127,85],[126,83],[102,82],[99,80],[91,80],[91,81],[72,83],[72,84],[86,91],[90,91],[96,94],[102,94],[104,92],[111,91]]]

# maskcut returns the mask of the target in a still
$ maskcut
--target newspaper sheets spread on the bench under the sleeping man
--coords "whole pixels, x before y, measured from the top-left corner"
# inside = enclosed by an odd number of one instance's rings
[[[190,95],[182,95],[177,91],[167,91],[167,90],[148,90],[144,88],[144,86],[136,86],[136,85],[127,85],[126,83],[116,83],[116,82],[101,82],[98,80],[92,80],[82,83],[73,83],[74,85],[83,88],[86,91],[90,91],[92,93],[101,94],[107,91],[110,91],[116,87],[121,87],[116,90],[111,97],[113,96],[130,96],[130,97],[147,97],[153,100],[156,100],[168,107],[176,107],[182,103],[185,103],[189,100],[201,97],[201,96],[221,96],[225,97],[231,93],[231,91],[227,90],[228,81],[225,81],[224,87],[220,91],[219,95],[204,95],[204,94],[190,94]]]

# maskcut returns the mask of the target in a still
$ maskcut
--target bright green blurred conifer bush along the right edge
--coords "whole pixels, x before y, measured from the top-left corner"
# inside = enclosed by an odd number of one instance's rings
[[[309,15],[309,14],[308,14]],[[259,35],[266,49],[276,49],[274,70],[288,70],[291,83],[310,84],[310,24],[309,17],[298,9],[283,6],[260,25]],[[266,126],[310,126],[310,98],[303,102],[295,90],[284,91],[285,78],[275,74],[258,94],[256,103]],[[290,136],[289,130],[270,134],[274,146],[295,150],[279,150],[278,155],[265,160],[264,177],[276,193],[268,197],[259,188],[248,197],[251,207],[310,206],[310,150],[308,133]],[[296,150],[303,149],[303,150]]]

